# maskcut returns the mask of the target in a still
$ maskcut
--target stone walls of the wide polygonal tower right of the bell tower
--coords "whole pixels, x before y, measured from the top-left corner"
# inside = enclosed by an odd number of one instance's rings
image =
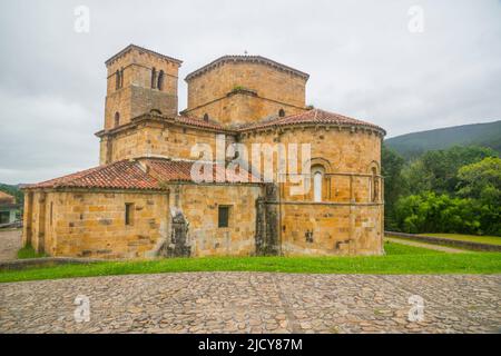
[[[207,112],[225,123],[250,122],[281,108],[289,113],[304,109],[305,88],[306,79],[262,63],[226,62],[188,80],[186,111],[199,117]]]

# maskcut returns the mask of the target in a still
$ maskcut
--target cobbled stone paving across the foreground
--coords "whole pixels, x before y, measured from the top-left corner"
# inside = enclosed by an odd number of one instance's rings
[[[90,300],[77,323],[75,298]],[[424,319],[409,322],[409,298]],[[0,284],[0,333],[499,333],[501,275],[179,273]]]

